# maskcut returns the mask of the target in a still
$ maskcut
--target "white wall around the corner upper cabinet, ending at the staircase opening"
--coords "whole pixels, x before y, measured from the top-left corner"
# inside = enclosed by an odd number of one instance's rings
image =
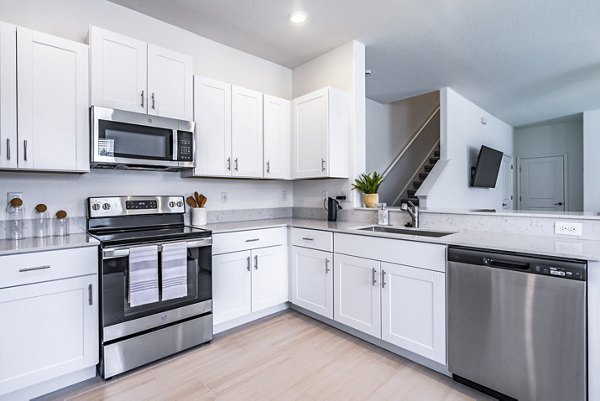
[[[365,171],[365,46],[349,42],[293,70],[293,96],[298,97],[325,86],[333,86],[350,95],[350,176]],[[294,182],[294,206],[322,207],[322,191],[330,196],[350,193],[354,179],[324,179]],[[358,197],[357,197],[358,198]],[[346,202],[345,207],[351,207]],[[358,202],[358,199],[354,200]]]

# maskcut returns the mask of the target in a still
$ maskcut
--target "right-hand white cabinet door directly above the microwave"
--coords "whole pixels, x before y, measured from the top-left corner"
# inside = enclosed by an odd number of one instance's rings
[[[192,57],[148,45],[148,114],[191,121]]]

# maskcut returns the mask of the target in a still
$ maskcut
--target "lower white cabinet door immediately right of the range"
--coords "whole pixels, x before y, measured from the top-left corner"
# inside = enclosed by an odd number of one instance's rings
[[[250,251],[213,256],[213,324],[252,312]]]

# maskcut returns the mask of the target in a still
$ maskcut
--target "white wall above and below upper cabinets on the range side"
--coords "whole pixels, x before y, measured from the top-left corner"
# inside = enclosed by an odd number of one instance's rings
[[[89,25],[97,25],[194,57],[194,72],[287,99],[292,71],[191,32],[104,0],[0,0],[6,22],[86,42]],[[281,181],[183,179],[178,173],[102,171],[89,174],[0,172],[0,220],[7,191],[23,192],[26,205],[40,202],[51,211],[84,215],[84,198],[102,195],[190,194],[208,196],[209,209],[292,206],[292,184]],[[282,200],[282,191],[287,200]],[[221,204],[221,192],[229,202]],[[29,208],[28,210],[31,210]]]

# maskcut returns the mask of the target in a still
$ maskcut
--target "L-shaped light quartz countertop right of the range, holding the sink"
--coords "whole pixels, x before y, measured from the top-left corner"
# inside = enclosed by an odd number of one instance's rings
[[[521,252],[534,255],[600,261],[600,241],[595,240],[485,231],[463,231],[444,237],[432,238],[416,235],[366,232],[358,230],[358,228],[373,225],[375,224],[287,218],[215,223],[209,224],[206,226],[206,228],[212,230],[213,233],[216,234],[232,231],[290,226],[346,234],[367,235],[371,237],[395,238],[434,244],[458,245],[500,251]],[[436,231],[435,229],[430,228],[427,228],[426,230]]]

